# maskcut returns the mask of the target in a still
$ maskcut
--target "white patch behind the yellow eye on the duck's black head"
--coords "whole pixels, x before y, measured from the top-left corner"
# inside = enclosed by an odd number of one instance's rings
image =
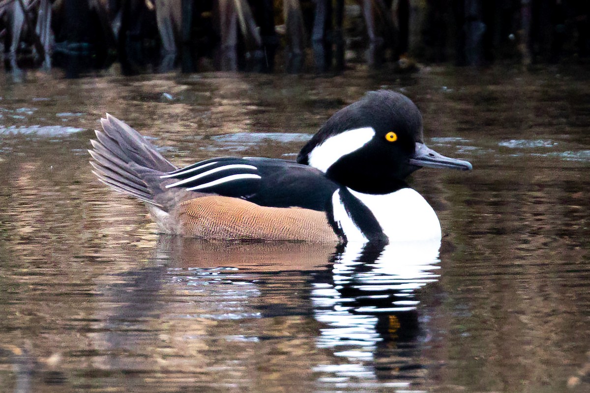
[[[375,136],[372,127],[355,128],[331,136],[309,153],[309,166],[326,173],[340,157],[365,146]]]

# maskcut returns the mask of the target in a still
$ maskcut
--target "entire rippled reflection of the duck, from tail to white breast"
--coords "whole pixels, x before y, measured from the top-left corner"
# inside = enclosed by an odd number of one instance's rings
[[[241,387],[270,383],[248,372],[261,368],[280,386],[422,388],[417,290],[438,279],[440,241],[334,247],[160,236],[147,266],[99,288],[87,378],[164,369],[162,386],[179,375],[208,384],[228,364],[221,382]]]

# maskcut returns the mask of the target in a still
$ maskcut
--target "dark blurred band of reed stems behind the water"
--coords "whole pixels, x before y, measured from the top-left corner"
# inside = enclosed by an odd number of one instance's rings
[[[573,0],[1,0],[5,69],[342,71],[587,61]]]

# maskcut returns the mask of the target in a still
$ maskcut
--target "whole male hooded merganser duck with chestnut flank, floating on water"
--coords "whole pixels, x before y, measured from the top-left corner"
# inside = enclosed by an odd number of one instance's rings
[[[405,182],[422,167],[471,170],[424,144],[405,95],[370,91],[332,115],[297,160],[219,157],[177,167],[106,114],[93,173],[144,202],[158,232],[206,240],[411,242],[441,239],[430,204]]]

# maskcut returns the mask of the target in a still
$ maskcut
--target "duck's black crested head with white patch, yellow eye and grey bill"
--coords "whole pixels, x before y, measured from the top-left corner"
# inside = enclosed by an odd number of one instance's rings
[[[316,167],[363,193],[399,189],[422,166],[471,169],[441,156],[422,141],[422,114],[405,95],[372,91],[336,112],[304,146],[297,162]]]

